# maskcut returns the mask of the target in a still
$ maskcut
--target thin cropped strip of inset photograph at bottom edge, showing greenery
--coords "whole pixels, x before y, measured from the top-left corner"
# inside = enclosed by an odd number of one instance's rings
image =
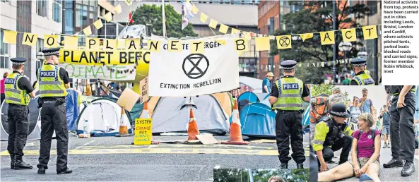
[[[305,182],[309,169],[214,169],[214,182]]]

